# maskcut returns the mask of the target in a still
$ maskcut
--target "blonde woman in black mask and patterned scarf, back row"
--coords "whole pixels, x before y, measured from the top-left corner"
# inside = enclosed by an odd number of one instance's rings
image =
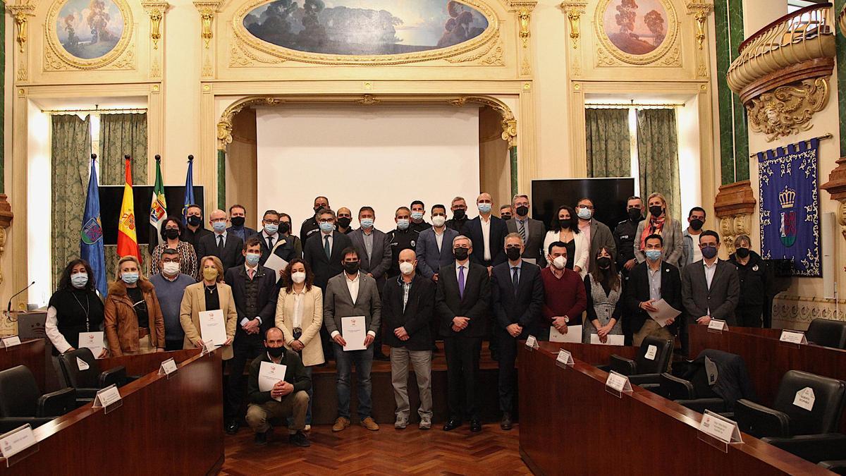
[[[646,260],[644,241],[649,235],[661,235],[664,241],[661,259],[678,268],[678,260],[682,257],[684,237],[682,225],[677,219],[667,214],[667,199],[660,193],[652,193],[646,200],[649,213],[646,219],[637,226],[634,235],[634,257],[638,263]]]

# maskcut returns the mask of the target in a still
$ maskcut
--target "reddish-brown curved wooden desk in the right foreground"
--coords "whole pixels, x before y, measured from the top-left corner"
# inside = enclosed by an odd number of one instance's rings
[[[536,474],[832,474],[748,434],[723,453],[697,438],[699,413],[636,385],[614,396],[605,372],[557,355],[519,351],[520,456]]]

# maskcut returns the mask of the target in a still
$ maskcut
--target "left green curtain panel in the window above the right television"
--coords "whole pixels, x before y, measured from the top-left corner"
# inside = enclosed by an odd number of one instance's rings
[[[631,176],[629,109],[585,109],[588,177]]]

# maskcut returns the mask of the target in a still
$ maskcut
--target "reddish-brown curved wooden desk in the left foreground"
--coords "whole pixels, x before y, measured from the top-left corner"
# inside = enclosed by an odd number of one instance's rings
[[[35,429],[39,451],[2,474],[216,474],[223,462],[219,352],[196,355],[170,379],[147,374],[106,414],[90,405]]]

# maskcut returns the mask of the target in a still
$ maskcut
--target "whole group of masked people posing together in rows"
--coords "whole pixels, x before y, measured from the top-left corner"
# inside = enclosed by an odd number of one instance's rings
[[[481,431],[479,360],[489,340],[499,365],[501,427],[511,429],[516,397],[514,364],[519,340],[567,334],[582,326],[581,340],[607,342],[624,335],[634,346],[647,335],[673,339],[684,322],[761,327],[768,267],[750,250],[748,236],[734,242],[729,261],[717,257],[720,237],[703,230],[705,211],[694,208],[688,226],[667,214],[667,201],[653,193],[644,203],[630,197],[628,219],[610,230],[594,218],[584,198],[575,208],[558,208],[549,230],[530,219],[529,197],[514,196],[492,214],[492,197],[476,198],[478,216],[455,197],[449,208],[434,205],[425,219],[423,202],[397,208],[395,228],[375,227],[371,207],[358,212],[352,227],[349,208],[332,210],[325,196],[314,201],[314,215],[299,236],[286,213],[268,210],[261,230],[244,226],[246,210],[209,213],[212,230],[201,224],[202,209],[187,210],[187,223],[170,217],[162,244],[152,252],[151,277],[137,257],[120,258],[105,300],[95,291],[91,268],[68,263],[47,312],[47,335],[54,354],[79,346],[80,332],[103,330],[113,357],[203,347],[200,313],[220,310],[229,361],[225,392],[226,431],[239,429],[244,368],[246,421],[255,442],[266,444],[269,420],[288,418],[289,441],[309,446],[311,374],[333,359],[337,368],[338,418],[333,431],[351,424],[351,374],[355,368],[358,423],[377,430],[371,415],[371,365],[391,362],[396,402],[395,428],[409,425],[408,377],[414,369],[420,393],[419,428],[432,418],[431,360],[443,341],[448,368],[448,420],[443,429],[469,421]],[[265,263],[273,256],[287,265],[277,272]],[[199,257],[199,258],[198,258]],[[742,296],[742,298],[741,298]],[[651,318],[663,300],[681,314],[658,324]],[[739,302],[743,302],[739,306]],[[344,335],[343,318],[363,318],[364,350]],[[350,328],[351,329],[351,328]],[[359,342],[360,343],[360,342]],[[390,349],[384,356],[382,346]],[[286,366],[272,390],[259,389],[261,363]],[[322,396],[321,396],[322,398]]]

